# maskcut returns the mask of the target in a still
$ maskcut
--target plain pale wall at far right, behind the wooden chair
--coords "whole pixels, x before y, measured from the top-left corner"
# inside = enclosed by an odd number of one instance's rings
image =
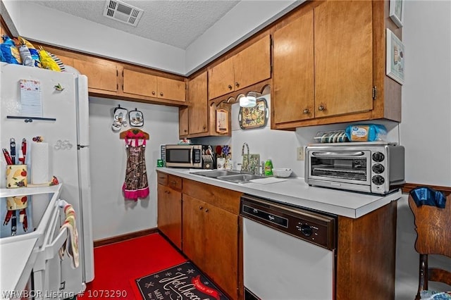
[[[406,180],[451,187],[451,2],[407,0],[402,31],[406,82],[400,142],[406,148]],[[397,300],[416,294],[415,239],[414,217],[403,195],[397,209]],[[439,260],[434,256],[429,264]]]

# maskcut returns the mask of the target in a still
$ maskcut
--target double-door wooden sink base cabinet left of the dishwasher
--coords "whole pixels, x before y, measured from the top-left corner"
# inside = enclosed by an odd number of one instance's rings
[[[183,253],[231,299],[242,280],[238,211],[241,193],[183,180]]]

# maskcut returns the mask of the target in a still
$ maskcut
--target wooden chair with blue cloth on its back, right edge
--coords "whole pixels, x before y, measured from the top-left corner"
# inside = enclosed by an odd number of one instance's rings
[[[419,287],[415,299],[428,289],[428,281],[450,285],[451,272],[440,268],[428,268],[428,254],[441,254],[451,259],[451,196],[446,199],[445,208],[436,206],[416,206],[409,196],[409,206],[415,217],[415,250],[419,253]]]

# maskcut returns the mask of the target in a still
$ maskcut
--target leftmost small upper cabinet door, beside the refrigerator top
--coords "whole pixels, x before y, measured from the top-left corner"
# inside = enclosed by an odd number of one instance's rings
[[[110,63],[104,60],[97,62],[80,61],[74,58],[73,67],[87,76],[87,86],[89,89],[117,92],[118,70],[116,63]]]

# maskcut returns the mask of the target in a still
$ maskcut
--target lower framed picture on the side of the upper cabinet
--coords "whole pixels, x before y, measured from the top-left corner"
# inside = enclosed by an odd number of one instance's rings
[[[404,44],[387,29],[387,75],[404,84]]]

